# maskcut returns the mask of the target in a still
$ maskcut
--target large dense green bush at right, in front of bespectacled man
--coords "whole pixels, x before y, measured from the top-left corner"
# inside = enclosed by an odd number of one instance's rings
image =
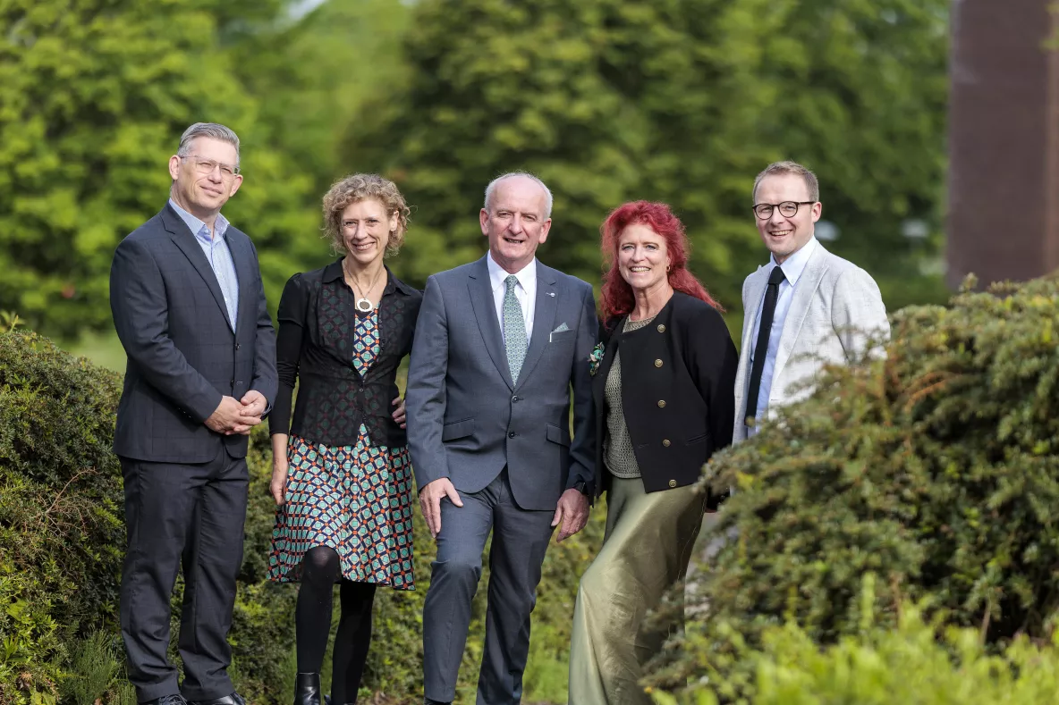
[[[699,618],[656,685],[711,674],[725,698],[755,681],[738,640],[793,620],[819,644],[861,629],[872,572],[880,625],[903,599],[987,644],[1054,631],[1059,594],[1059,281],[962,293],[893,317],[885,361],[832,367],[807,401],[716,456],[738,492]],[[708,598],[704,596],[708,596]]]

